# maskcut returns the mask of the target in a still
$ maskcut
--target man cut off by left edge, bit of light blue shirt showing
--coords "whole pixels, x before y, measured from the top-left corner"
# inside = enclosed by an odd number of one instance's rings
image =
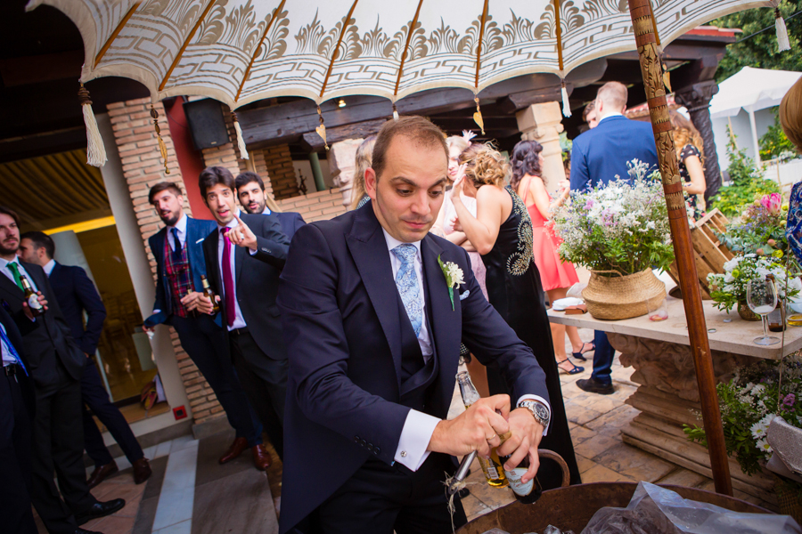
[[[33,328],[33,322],[29,321]],[[34,392],[25,365],[22,335],[0,306],[0,517],[4,529],[37,534],[30,507],[30,433]]]

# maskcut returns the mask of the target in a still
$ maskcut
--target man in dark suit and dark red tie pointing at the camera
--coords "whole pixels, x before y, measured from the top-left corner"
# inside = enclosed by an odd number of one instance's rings
[[[233,175],[212,166],[201,173],[201,195],[217,220],[203,242],[209,281],[220,298],[231,357],[270,441],[283,458],[287,350],[275,297],[290,245],[274,214],[238,213]],[[210,311],[209,299],[199,301]]]

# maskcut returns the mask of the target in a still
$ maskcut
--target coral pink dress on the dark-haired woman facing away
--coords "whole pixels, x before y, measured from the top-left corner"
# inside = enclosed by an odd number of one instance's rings
[[[529,196],[529,183],[524,196],[524,204]],[[545,227],[544,219],[536,204],[527,206],[529,218],[532,219],[532,255],[535,256],[537,271],[540,271],[540,280],[544,291],[558,287],[571,287],[579,282],[574,264],[563,262],[557,252],[562,240],[554,232]]]

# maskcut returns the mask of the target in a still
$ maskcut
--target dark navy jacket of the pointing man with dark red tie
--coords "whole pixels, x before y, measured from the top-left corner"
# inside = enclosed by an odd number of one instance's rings
[[[278,293],[279,275],[287,260],[290,240],[282,232],[282,226],[275,214],[241,213],[240,219],[256,235],[258,247],[256,254],[251,255],[245,247],[233,246],[237,302],[240,303],[243,319],[259,349],[273,360],[286,360],[287,351],[282,339],[282,323],[275,297]],[[216,224],[215,231],[203,241],[203,252],[206,255],[206,271],[209,272],[209,286],[215,295],[220,295],[223,304],[223,274],[217,261],[218,243]],[[227,324],[225,305],[220,306],[217,320]]]

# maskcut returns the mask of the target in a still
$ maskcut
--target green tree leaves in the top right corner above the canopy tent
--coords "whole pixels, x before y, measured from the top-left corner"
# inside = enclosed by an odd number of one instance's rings
[[[777,36],[774,31],[774,12],[770,8],[752,8],[747,11],[732,13],[710,24],[719,28],[741,28],[743,33],[738,38],[749,36],[763,28],[763,33],[749,37],[742,43],[727,45],[724,59],[718,64],[716,81],[721,82],[743,67],[758,69],[802,70],[802,15],[788,20],[790,15],[802,9],[802,0],[786,0],[780,4],[780,12],[786,19],[788,38],[791,49],[786,52],[777,50]]]

